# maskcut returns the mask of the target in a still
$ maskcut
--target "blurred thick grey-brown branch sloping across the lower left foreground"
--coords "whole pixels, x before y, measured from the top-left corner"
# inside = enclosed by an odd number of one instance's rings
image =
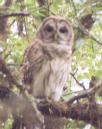
[[[15,120],[14,122],[16,122],[15,124],[20,124],[17,125],[18,128],[13,124],[13,128],[20,129],[23,123],[28,129],[35,129],[34,127],[43,129],[43,116],[38,111],[36,104],[32,105],[26,98],[23,95],[15,94],[6,87],[0,86],[0,102],[2,102],[0,106],[3,106],[3,113],[5,113],[5,110],[9,110]],[[2,121],[1,115],[0,121]]]

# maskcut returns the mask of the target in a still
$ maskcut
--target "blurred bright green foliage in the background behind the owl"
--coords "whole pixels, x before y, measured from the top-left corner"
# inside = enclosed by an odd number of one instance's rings
[[[18,15],[21,12],[23,14]],[[5,14],[7,17],[3,18]],[[80,84],[85,85],[84,88],[88,88],[92,76],[102,78],[101,0],[49,0],[45,5],[40,5],[37,0],[0,0],[0,26],[5,23],[5,28],[0,27],[0,56],[6,60],[14,76],[19,80],[24,50],[33,41],[42,19],[52,14],[61,15],[72,22],[75,32],[75,51],[71,72]],[[89,29],[84,28],[84,31],[88,30],[88,34],[85,35],[80,30],[77,18],[81,19],[88,14],[91,14],[93,23]],[[3,22],[3,19],[6,22]],[[66,85],[68,90],[65,91],[65,99],[83,90],[81,85],[75,87],[76,81],[72,76],[69,77]],[[98,101],[102,102],[102,99],[98,97]],[[68,124],[68,129],[84,127],[85,123],[78,121]],[[4,128],[8,129],[9,125]]]

